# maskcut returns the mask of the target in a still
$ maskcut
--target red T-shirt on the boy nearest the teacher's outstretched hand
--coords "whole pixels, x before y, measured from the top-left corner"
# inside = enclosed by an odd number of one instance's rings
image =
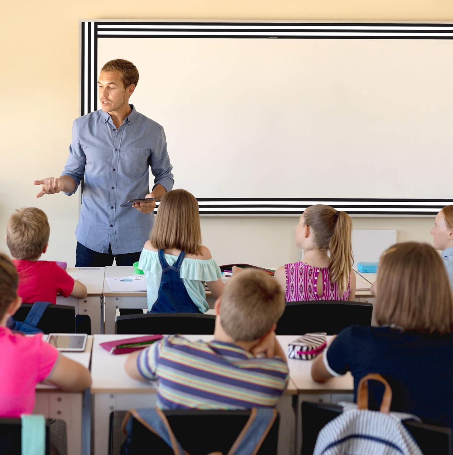
[[[54,261],[25,261],[14,259],[19,273],[17,293],[23,303],[56,303],[56,294],[71,295],[74,278]]]

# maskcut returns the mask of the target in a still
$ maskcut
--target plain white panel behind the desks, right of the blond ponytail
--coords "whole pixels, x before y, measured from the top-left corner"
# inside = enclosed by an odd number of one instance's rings
[[[381,254],[395,243],[394,229],[352,229],[354,268],[359,262],[379,262]]]

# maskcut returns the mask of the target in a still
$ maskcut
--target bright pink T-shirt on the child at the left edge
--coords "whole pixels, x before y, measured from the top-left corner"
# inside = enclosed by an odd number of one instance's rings
[[[41,334],[13,334],[0,327],[0,417],[31,414],[36,384],[49,376],[57,359],[58,351]]]

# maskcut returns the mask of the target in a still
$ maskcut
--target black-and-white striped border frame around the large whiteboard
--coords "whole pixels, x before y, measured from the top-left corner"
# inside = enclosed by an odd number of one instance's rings
[[[98,109],[99,38],[262,38],[451,40],[453,23],[440,21],[292,20],[79,20],[79,106]],[[265,196],[265,195],[263,195]],[[453,199],[199,198],[200,215],[299,216],[312,204],[328,204],[351,216],[433,217]]]

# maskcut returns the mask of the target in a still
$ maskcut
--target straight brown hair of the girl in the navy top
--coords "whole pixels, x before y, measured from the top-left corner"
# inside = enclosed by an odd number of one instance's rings
[[[422,333],[453,332],[453,298],[447,271],[427,243],[397,243],[381,256],[376,321]]]

